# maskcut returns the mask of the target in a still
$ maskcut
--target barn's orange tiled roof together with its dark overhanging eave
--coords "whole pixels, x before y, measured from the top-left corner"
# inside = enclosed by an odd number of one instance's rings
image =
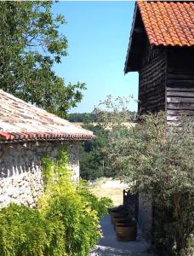
[[[147,43],[151,47],[194,46],[193,1],[137,1],[124,73],[140,71]]]

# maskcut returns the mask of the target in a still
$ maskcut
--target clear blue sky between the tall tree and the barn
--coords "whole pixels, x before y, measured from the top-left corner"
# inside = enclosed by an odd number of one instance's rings
[[[69,82],[84,82],[83,101],[71,113],[91,112],[107,95],[138,96],[138,73],[123,68],[134,15],[134,2],[60,2],[54,14],[66,18],[60,32],[68,39],[68,55],[54,67]],[[130,104],[136,110],[137,104]]]

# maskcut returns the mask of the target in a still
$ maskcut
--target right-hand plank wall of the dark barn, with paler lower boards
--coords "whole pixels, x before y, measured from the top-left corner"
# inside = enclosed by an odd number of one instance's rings
[[[167,113],[168,121],[194,116],[194,49],[168,50]]]

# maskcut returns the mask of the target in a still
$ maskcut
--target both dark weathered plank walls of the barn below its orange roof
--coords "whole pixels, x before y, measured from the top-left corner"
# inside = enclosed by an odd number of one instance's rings
[[[139,113],[167,111],[168,121],[194,116],[194,48],[146,44],[139,77]]]

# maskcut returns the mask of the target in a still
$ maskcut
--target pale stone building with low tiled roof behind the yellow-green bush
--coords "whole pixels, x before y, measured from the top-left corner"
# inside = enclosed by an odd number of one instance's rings
[[[10,202],[36,207],[43,192],[41,159],[68,148],[72,177],[79,177],[79,143],[91,131],[0,90],[0,207]]]

